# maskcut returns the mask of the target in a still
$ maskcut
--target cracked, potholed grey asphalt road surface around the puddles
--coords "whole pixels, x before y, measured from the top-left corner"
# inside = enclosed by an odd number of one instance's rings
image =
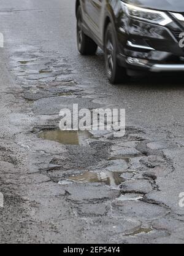
[[[77,52],[74,9],[1,0],[0,241],[183,244],[184,77],[110,85],[102,51]],[[59,111],[73,103],[125,108],[125,136],[57,142]]]

